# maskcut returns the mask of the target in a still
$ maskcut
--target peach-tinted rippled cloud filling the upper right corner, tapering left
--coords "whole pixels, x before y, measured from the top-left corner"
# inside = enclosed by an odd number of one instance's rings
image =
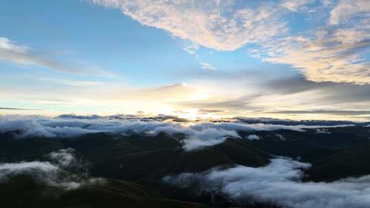
[[[288,1],[295,5],[304,1]],[[370,83],[370,62],[363,58],[370,51],[369,1],[323,2],[328,24],[301,35],[277,38],[261,44],[252,53],[265,61],[289,64],[310,81]]]

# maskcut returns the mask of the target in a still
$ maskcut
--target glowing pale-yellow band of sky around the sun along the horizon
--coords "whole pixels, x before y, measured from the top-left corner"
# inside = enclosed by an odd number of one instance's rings
[[[229,79],[212,80],[199,79],[189,83],[174,83],[156,88],[134,88],[123,84],[102,83],[90,85],[83,83],[77,88],[58,83],[58,96],[54,88],[51,90],[40,88],[0,90],[2,101],[16,103],[2,107],[28,106],[32,109],[42,109],[38,112],[19,112],[16,110],[0,110],[0,114],[44,114],[57,116],[58,114],[136,114],[144,111],[146,114],[167,114],[180,118],[225,118],[232,116],[271,117],[291,119],[344,119],[367,120],[364,114],[351,116],[347,114],[294,114],[286,112],[276,114],[277,111],[304,111],[304,110],[360,110],[370,105],[366,89],[348,85],[338,88],[334,83],[325,84],[321,88],[305,87],[308,83],[293,84],[301,88],[276,84],[277,78],[267,79],[258,83],[252,75],[236,76]],[[262,78],[261,78],[262,79]],[[237,83],[243,80],[243,86]],[[51,86],[51,81],[48,80]],[[281,83],[292,81],[285,79]],[[30,83],[32,85],[32,83]],[[270,85],[270,86],[269,86]],[[359,87],[359,86],[358,86]],[[333,91],[333,88],[338,88]],[[293,91],[292,91],[293,90]],[[297,90],[297,91],[294,91]],[[38,93],[34,93],[38,92]],[[351,92],[351,93],[349,93]],[[341,99],[336,100],[339,97]],[[354,96],[354,97],[351,97]],[[23,103],[19,105],[19,103]]]

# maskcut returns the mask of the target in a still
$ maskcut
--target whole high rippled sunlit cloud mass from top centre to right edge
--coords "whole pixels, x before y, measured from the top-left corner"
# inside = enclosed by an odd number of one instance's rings
[[[370,4],[367,0],[342,1],[128,1],[90,0],[118,8],[143,25],[169,31],[196,45],[234,51],[248,44],[251,55],[275,64],[297,68],[311,81],[370,83]],[[323,13],[325,25],[315,33],[306,29],[291,33],[286,18],[292,12]],[[316,12],[316,13],[315,13]],[[313,15],[313,14],[312,14]],[[305,21],[310,21],[306,19]],[[195,55],[198,49],[185,48]],[[361,61],[359,61],[361,60]],[[202,68],[214,69],[206,62]]]

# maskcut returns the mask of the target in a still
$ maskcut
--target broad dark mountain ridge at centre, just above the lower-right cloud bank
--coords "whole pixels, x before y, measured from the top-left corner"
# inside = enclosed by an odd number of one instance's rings
[[[167,174],[200,172],[214,166],[263,166],[270,157],[245,141],[230,138],[194,151],[175,147],[121,155],[95,163],[93,174],[130,181],[158,181]]]

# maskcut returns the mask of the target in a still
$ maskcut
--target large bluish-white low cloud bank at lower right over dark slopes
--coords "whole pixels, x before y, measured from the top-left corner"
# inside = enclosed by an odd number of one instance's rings
[[[310,164],[280,158],[260,168],[212,168],[201,173],[167,176],[163,180],[180,187],[197,184],[199,191],[222,192],[242,205],[256,200],[294,208],[369,207],[370,176],[332,183],[301,182],[304,177],[301,169],[307,168]]]

